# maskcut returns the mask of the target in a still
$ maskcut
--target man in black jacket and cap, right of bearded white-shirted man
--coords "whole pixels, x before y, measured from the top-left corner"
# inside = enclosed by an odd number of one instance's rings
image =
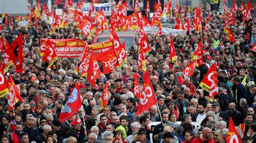
[[[220,104],[219,103],[213,103],[212,104],[212,109],[214,111],[214,120],[219,122],[220,120],[224,120],[228,124],[229,116],[227,115],[226,112],[220,111]]]

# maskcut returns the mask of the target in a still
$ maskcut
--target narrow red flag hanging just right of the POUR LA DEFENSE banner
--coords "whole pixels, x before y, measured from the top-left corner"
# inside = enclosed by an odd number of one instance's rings
[[[95,87],[96,79],[101,74],[102,74],[102,72],[99,69],[99,64],[98,64],[97,59],[92,51],[89,66],[88,66],[88,73],[87,73],[87,77],[86,77],[87,81],[91,83],[92,87]]]

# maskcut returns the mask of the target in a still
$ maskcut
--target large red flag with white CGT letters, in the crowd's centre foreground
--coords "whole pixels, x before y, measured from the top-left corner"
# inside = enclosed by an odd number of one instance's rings
[[[145,71],[143,79],[144,84],[142,89],[142,96],[139,98],[138,110],[136,115],[140,115],[144,111],[150,109],[152,105],[157,104],[156,96],[154,95],[154,89],[152,87],[148,70]]]

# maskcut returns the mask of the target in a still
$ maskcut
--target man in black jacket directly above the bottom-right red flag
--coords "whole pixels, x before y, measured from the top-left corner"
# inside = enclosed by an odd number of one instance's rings
[[[228,105],[227,115],[233,119],[235,126],[239,126],[241,113],[235,109],[235,103]]]

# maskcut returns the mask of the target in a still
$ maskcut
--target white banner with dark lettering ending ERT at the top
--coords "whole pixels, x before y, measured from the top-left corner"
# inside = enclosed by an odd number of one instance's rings
[[[100,3],[100,4],[93,4],[94,11],[92,12],[91,16],[95,16],[96,12],[102,9],[105,16],[111,15],[111,3]],[[88,14],[90,10],[91,3],[84,3],[83,5],[83,14]]]

